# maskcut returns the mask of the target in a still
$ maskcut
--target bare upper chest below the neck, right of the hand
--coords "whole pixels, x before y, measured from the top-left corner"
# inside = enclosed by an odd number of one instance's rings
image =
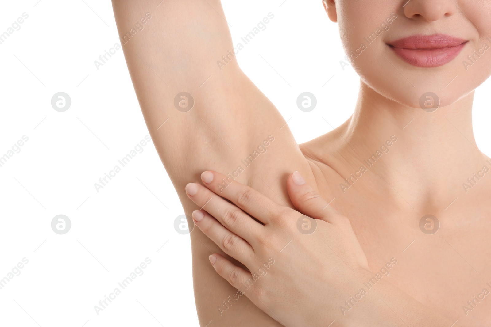
[[[377,176],[345,183],[319,172],[319,193],[350,219],[373,273],[459,326],[491,326],[491,184],[456,195],[450,209],[409,207]]]

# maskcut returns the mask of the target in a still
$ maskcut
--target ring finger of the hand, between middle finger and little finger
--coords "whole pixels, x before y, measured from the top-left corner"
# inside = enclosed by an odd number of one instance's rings
[[[198,226],[223,252],[245,265],[250,263],[254,250],[244,239],[223,227],[205,210],[194,210],[192,219],[194,225]]]

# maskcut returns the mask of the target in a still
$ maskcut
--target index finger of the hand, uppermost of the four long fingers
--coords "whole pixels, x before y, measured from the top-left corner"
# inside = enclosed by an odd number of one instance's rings
[[[210,190],[232,201],[263,224],[268,224],[270,218],[277,216],[278,208],[282,207],[252,187],[241,184],[233,180],[232,177],[218,172],[203,172],[201,180]]]

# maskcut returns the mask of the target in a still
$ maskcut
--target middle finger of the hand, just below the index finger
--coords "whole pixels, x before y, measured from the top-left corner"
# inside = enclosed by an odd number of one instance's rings
[[[245,239],[249,244],[255,244],[254,240],[264,232],[263,225],[203,185],[189,183],[186,185],[186,193],[200,208],[205,209],[221,225]]]

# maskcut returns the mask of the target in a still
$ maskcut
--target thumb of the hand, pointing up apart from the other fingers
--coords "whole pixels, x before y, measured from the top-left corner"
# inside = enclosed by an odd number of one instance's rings
[[[337,211],[305,182],[299,172],[293,172],[286,184],[290,200],[302,214],[333,223]]]

